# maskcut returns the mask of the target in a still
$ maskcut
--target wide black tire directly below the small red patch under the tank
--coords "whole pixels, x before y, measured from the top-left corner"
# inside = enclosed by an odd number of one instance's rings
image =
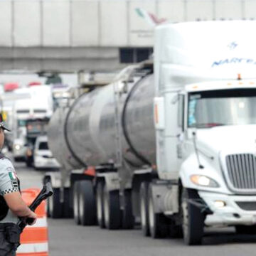
[[[96,225],[97,212],[92,181],[80,181],[79,212],[81,225]]]

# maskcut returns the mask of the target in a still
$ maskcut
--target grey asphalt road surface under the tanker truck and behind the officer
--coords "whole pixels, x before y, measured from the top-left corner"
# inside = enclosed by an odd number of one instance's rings
[[[41,187],[43,171],[16,163],[22,188]],[[187,247],[181,239],[152,240],[135,230],[101,230],[82,227],[73,220],[48,219],[50,256],[252,256],[256,235],[236,235],[233,228],[206,230],[203,245]],[[217,232],[218,231],[218,232]]]

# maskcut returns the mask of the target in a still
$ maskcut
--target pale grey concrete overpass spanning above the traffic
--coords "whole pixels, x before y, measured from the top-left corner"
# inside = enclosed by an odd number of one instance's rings
[[[170,21],[254,19],[254,0],[1,0],[0,71],[115,70],[151,54],[144,9]]]

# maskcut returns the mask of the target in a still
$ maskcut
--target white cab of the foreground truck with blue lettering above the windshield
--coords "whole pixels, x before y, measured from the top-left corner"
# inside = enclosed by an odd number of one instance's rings
[[[201,36],[213,26],[218,35]],[[255,233],[251,26],[255,22],[214,21],[156,28],[156,162],[159,180],[166,182],[156,209],[172,219],[178,215],[188,245],[201,243],[204,226]]]

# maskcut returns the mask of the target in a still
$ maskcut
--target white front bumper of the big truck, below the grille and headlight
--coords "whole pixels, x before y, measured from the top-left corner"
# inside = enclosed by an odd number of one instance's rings
[[[205,191],[198,191],[198,194],[213,212],[213,214],[207,215],[205,220],[206,225],[256,224],[256,196],[232,196]],[[217,207],[215,204],[216,201],[225,202],[225,206]],[[241,203],[243,204],[242,207]],[[247,210],[248,208],[250,210]]]

